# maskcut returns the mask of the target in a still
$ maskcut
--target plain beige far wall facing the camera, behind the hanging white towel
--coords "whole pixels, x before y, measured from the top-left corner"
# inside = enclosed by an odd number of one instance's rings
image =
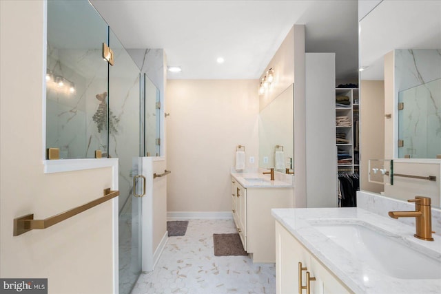
[[[256,80],[167,81],[167,211],[231,211],[236,146],[258,167],[257,90]]]

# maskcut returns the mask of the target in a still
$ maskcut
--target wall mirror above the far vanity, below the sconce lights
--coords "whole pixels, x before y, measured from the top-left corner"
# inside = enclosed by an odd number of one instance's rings
[[[294,84],[260,111],[258,133],[259,167],[294,169]]]

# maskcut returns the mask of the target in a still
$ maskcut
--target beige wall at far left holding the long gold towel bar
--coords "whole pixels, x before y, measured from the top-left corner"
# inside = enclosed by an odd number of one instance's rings
[[[112,202],[12,236],[18,216],[101,196],[112,169],[43,174],[43,1],[0,1],[0,11],[0,276],[47,277],[49,293],[112,293]]]

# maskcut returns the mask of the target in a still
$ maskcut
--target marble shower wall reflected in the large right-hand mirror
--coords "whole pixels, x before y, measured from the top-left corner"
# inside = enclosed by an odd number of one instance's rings
[[[395,50],[399,158],[435,158],[441,154],[441,50]]]

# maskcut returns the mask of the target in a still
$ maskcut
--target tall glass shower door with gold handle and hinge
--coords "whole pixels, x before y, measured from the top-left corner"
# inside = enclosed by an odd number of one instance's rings
[[[127,294],[141,273],[142,198],[133,193],[143,151],[140,72],[112,30],[109,47],[114,51],[109,67],[109,155],[119,158],[119,293]]]

